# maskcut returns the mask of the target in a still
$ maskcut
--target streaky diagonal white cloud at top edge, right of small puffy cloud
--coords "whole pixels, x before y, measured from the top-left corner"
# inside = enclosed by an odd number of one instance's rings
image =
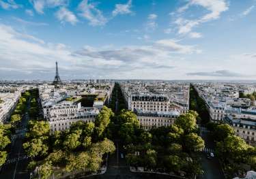
[[[96,8],[96,5],[88,3],[88,0],[83,0],[79,4],[80,15],[89,20],[89,25],[102,26],[108,21],[100,10]]]

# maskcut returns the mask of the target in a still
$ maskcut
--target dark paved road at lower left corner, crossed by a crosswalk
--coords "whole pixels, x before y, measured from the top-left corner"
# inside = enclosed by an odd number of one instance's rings
[[[30,103],[30,99],[29,99]],[[30,105],[27,105],[27,109]],[[27,179],[29,178],[29,172],[27,172],[27,164],[29,159],[25,155],[23,150],[23,139],[26,131],[27,123],[29,121],[29,115],[25,114],[21,120],[20,127],[16,130],[16,134],[12,137],[12,149],[8,154],[8,161],[3,165],[0,178],[3,179]]]

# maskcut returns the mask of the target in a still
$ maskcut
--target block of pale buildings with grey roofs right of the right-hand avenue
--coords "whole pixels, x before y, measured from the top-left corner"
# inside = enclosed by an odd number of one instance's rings
[[[256,108],[251,99],[239,98],[239,93],[253,93],[251,84],[194,84],[197,93],[205,101],[210,120],[227,123],[236,135],[248,144],[256,144]]]

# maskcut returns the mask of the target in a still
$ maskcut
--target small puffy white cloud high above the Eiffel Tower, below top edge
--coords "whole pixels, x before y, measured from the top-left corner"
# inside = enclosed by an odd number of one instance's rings
[[[56,12],[55,16],[61,21],[61,23],[70,22],[70,24],[75,25],[76,22],[79,21],[77,20],[76,16],[72,12],[66,9],[66,7],[61,7]]]

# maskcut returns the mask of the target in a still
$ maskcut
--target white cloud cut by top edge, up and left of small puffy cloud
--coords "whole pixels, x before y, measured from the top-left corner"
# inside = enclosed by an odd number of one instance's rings
[[[69,0],[29,0],[39,14],[44,14],[44,8],[58,7],[66,5]]]

